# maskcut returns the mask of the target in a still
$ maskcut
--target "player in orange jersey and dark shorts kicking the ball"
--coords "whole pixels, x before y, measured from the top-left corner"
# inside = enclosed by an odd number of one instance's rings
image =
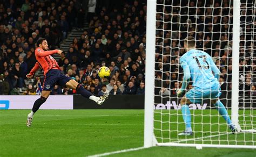
[[[26,77],[31,79],[35,74],[36,70],[38,68],[41,68],[44,70],[44,82],[41,97],[35,101],[32,111],[28,115],[28,119],[26,121],[26,126],[28,127],[31,126],[33,115],[49,97],[50,92],[55,84],[61,85],[62,87],[76,89],[79,94],[91,99],[92,101],[95,101],[99,105],[101,105],[108,98],[108,95],[103,95],[100,97],[93,96],[89,91],[84,89],[83,85],[77,83],[70,77],[65,76],[60,71],[57,61],[51,56],[55,53],[60,55],[62,54],[62,51],[59,49],[48,51],[48,42],[46,41],[46,39],[38,39],[37,48],[35,50],[37,62],[35,66],[31,69],[30,73],[26,75]]]

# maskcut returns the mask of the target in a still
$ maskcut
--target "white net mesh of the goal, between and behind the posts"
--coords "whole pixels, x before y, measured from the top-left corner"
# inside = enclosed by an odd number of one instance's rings
[[[242,130],[256,129],[255,13],[254,1],[241,1],[239,123]],[[179,59],[186,53],[183,46],[188,36],[196,39],[197,49],[212,56],[220,69],[220,101],[231,116],[232,27],[233,1],[157,1],[154,135],[158,142],[255,145],[253,133],[231,133],[210,99],[189,105],[193,135],[178,136],[185,130],[180,98],[176,95],[184,75]],[[186,91],[192,88],[189,82]]]

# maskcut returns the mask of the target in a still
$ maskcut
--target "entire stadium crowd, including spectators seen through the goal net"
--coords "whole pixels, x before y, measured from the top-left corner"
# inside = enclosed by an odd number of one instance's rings
[[[161,5],[164,2],[166,6]],[[196,38],[197,48],[210,54],[220,68],[221,89],[232,88],[232,9],[228,8],[232,2],[189,2],[157,1],[157,12],[164,13],[156,17],[156,95],[175,95],[180,87],[183,72],[178,63],[185,53],[183,40],[188,35]],[[16,89],[25,87],[25,75],[36,62],[34,51],[38,38],[46,38],[51,49],[58,48],[73,27],[82,28],[84,15],[89,28],[79,39],[74,38],[69,51],[60,56],[58,64],[63,73],[95,95],[144,94],[146,1],[96,0],[0,3],[0,94],[17,94]],[[245,38],[250,37],[241,35],[241,40]],[[249,54],[246,51],[250,50],[240,49],[241,56]],[[249,71],[251,65],[255,63],[244,58],[240,70]],[[98,77],[100,66],[110,68],[108,79]],[[247,71],[240,76],[245,82],[240,87],[250,91],[254,86],[246,87],[246,82],[252,82]],[[33,83],[25,87],[24,94],[40,94],[41,84],[42,78],[36,75]],[[52,95],[56,94],[76,94],[76,91],[56,85]]]

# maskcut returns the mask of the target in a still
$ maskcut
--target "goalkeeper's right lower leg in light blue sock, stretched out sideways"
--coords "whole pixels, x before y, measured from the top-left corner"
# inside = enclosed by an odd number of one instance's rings
[[[213,99],[211,102],[212,104],[214,104],[219,114],[226,120],[228,127],[230,127],[230,130],[233,133],[237,132],[237,127],[232,124],[230,116],[228,116],[227,110],[223,103],[221,103],[219,99]]]

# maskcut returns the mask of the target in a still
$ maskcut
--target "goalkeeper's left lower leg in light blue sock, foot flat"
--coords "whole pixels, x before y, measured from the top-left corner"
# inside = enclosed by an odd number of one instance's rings
[[[192,135],[192,127],[191,127],[191,113],[188,104],[191,104],[190,100],[187,99],[185,96],[181,98],[181,112],[184,123],[186,124],[186,129],[184,132],[179,133],[178,135]]]

